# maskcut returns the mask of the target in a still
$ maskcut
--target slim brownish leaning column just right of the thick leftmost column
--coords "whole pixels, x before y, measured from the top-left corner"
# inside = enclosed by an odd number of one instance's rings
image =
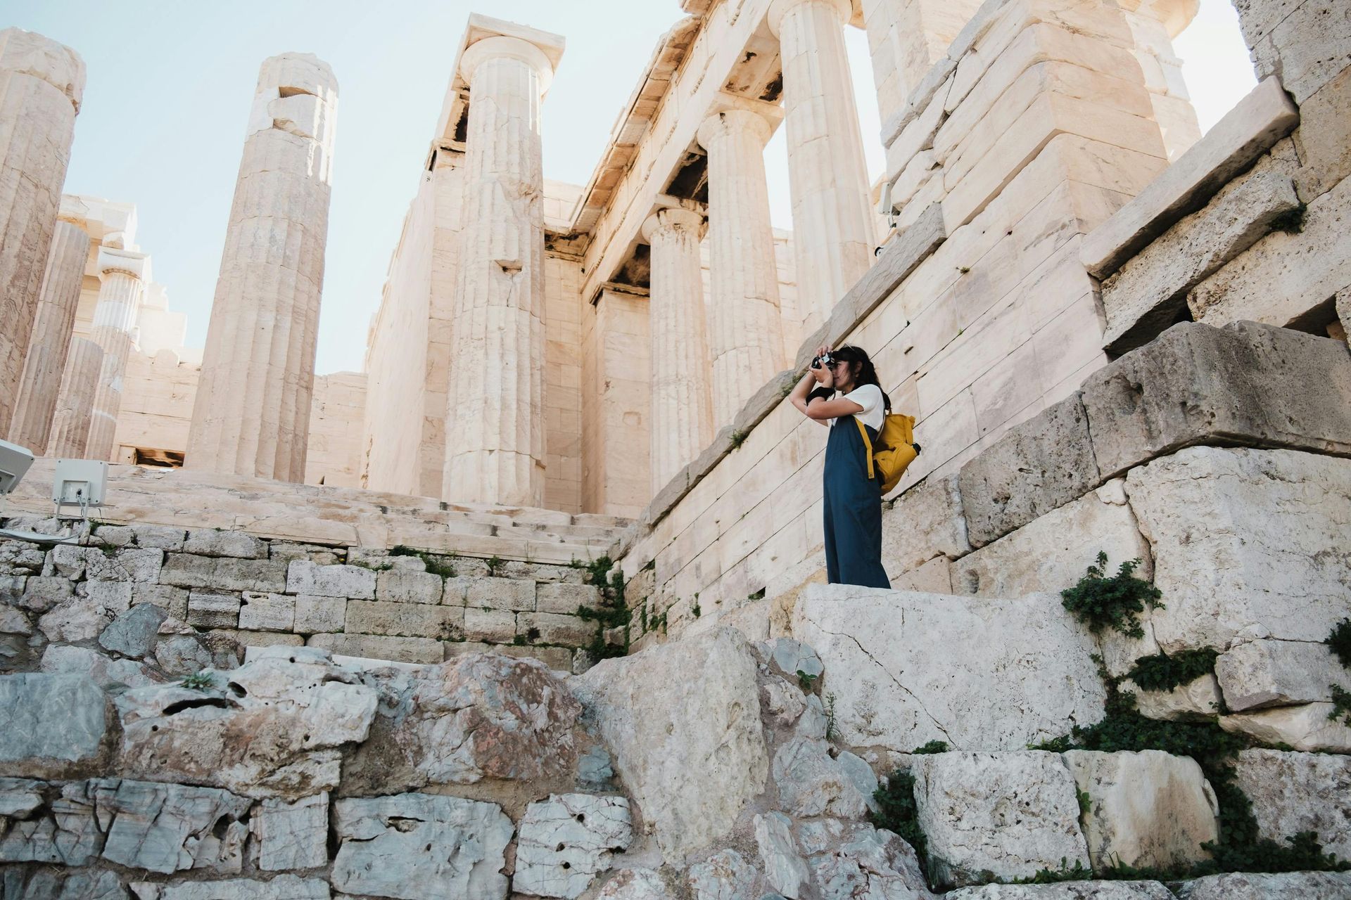
[[[28,356],[19,385],[19,403],[9,424],[9,441],[42,453],[51,433],[51,413],[61,393],[61,372],[80,305],[80,285],[89,260],[89,235],[58,221],[51,235],[47,267],[38,291],[38,314],[28,337]]]

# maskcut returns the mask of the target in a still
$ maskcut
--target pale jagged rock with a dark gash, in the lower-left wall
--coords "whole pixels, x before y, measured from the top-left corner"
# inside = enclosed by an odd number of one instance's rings
[[[128,691],[119,764],[124,772],[228,788],[249,796],[309,796],[338,779],[338,748],[366,739],[374,688],[322,650],[265,648],[218,676],[218,691]]]

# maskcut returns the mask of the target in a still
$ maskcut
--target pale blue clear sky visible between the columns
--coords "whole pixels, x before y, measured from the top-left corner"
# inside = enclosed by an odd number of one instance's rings
[[[339,82],[319,327],[320,374],[361,370],[366,328],[471,11],[554,31],[567,50],[544,101],[544,177],[584,185],[677,0],[5,0],[0,24],[77,50],[89,77],[66,193],[136,204],[136,240],[201,345],[258,65],[317,54]],[[867,42],[848,28],[869,169],[882,170]],[[1252,84],[1228,0],[1201,0],[1175,42],[1208,128]],[[782,130],[766,148],[774,224],[792,228]]]

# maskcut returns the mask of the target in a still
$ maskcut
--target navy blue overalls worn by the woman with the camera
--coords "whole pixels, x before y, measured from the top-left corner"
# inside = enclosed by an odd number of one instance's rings
[[[882,568],[882,486],[867,476],[863,437],[852,416],[836,418],[830,432],[821,487],[825,578],[831,584],[892,587]],[[867,428],[867,437],[877,441],[877,432]]]

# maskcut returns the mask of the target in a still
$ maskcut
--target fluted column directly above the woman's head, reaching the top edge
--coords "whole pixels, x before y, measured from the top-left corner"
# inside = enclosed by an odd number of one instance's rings
[[[875,227],[844,50],[848,0],[774,0],[802,333],[825,321],[873,262]]]

